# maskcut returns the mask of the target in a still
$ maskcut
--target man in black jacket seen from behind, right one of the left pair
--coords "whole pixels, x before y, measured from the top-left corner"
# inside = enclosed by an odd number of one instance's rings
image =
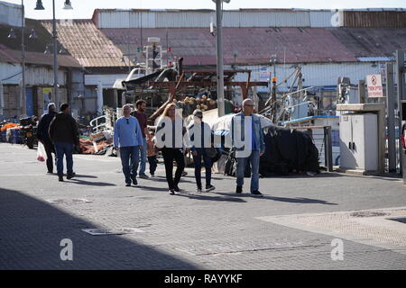
[[[67,178],[75,176],[73,172],[73,146],[78,146],[78,125],[70,115],[69,105],[60,105],[60,113],[51,121],[50,138],[57,154],[57,170],[60,182],[63,182],[63,156],[66,155]]]

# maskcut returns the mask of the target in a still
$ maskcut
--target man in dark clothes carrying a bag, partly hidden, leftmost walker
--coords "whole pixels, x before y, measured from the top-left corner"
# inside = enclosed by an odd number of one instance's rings
[[[50,139],[50,135],[48,134],[48,130],[50,130],[50,124],[57,112],[55,112],[56,107],[55,103],[48,104],[48,113],[45,113],[41,116],[41,120],[38,123],[37,129],[37,138],[40,140],[45,148],[47,153],[47,167],[48,173],[53,173],[53,161],[52,161],[52,153],[55,153],[55,148],[53,148],[52,141]]]

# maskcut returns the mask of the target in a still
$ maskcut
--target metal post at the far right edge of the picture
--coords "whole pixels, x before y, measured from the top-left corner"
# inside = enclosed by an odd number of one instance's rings
[[[401,100],[404,99],[404,51],[403,50],[396,50],[396,74],[397,74],[397,82],[398,82],[398,111],[399,111],[399,120],[398,126],[399,131],[401,131]],[[403,173],[403,158],[402,158],[402,149],[401,149],[401,137],[398,139],[399,141],[399,164],[400,164],[400,174]]]

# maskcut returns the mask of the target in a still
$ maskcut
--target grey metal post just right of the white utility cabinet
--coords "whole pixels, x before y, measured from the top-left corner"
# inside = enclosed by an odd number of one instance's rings
[[[396,172],[396,136],[394,103],[396,101],[393,91],[393,64],[386,63],[386,107],[388,115],[388,160],[389,172]]]

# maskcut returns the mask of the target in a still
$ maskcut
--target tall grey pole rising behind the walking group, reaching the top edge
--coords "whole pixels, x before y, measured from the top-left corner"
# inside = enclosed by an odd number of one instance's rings
[[[223,44],[221,41],[221,18],[222,18],[222,4],[223,0],[217,0],[216,13],[217,13],[217,107],[218,117],[225,115],[224,105],[224,70],[223,70]]]

